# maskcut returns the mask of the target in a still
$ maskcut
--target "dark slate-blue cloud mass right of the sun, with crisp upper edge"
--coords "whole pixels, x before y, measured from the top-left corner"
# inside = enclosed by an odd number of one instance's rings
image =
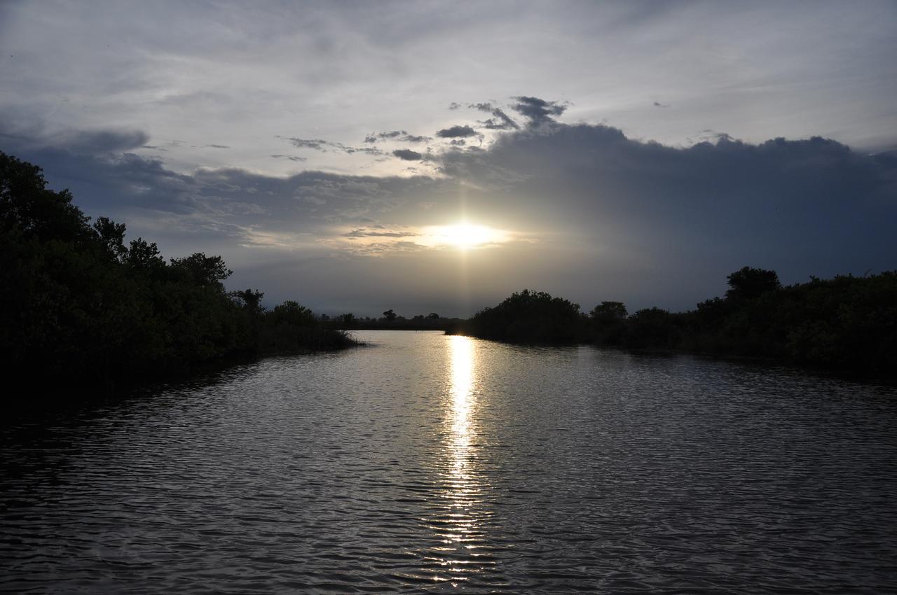
[[[556,125],[439,162],[449,177],[513,196],[527,220],[629,246],[620,262],[655,274],[691,262],[717,275],[739,262],[804,275],[893,266],[897,160],[820,137],[717,138],[682,149],[605,125]]]

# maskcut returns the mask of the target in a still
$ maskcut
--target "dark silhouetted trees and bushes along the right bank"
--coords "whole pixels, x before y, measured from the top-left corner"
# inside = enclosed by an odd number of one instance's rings
[[[499,341],[685,349],[897,375],[897,272],[782,287],[776,272],[745,267],[728,276],[728,286],[725,297],[688,312],[652,307],[631,315],[620,302],[601,302],[587,315],[561,297],[523,290],[455,332]]]

